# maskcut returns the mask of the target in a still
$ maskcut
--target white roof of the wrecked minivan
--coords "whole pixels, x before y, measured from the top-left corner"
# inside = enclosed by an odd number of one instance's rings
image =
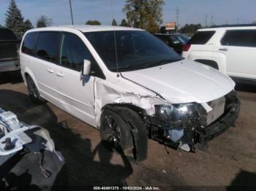
[[[89,25],[75,25],[75,26],[50,26],[44,28],[35,28],[30,31],[60,31],[67,29],[75,29],[82,32],[92,32],[92,31],[143,31],[140,28],[130,28],[123,26],[89,26]]]

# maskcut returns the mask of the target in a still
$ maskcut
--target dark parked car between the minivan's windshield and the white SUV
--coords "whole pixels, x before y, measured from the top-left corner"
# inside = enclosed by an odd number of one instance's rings
[[[182,49],[189,41],[189,37],[184,34],[155,34],[169,47],[172,47],[178,54],[182,53]]]

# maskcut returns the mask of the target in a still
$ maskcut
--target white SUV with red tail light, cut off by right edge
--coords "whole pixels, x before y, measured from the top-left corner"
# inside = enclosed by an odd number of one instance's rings
[[[218,69],[233,79],[256,82],[256,26],[200,29],[182,56]]]

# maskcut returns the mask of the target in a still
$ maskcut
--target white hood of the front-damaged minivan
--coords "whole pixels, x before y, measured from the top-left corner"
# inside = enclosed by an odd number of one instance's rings
[[[188,60],[126,71],[121,75],[159,93],[173,104],[206,103],[226,95],[235,87],[235,82],[225,74]]]

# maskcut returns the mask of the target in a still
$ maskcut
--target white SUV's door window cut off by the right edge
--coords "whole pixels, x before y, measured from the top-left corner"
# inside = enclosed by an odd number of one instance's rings
[[[230,30],[221,41],[225,46],[256,47],[256,30]]]

